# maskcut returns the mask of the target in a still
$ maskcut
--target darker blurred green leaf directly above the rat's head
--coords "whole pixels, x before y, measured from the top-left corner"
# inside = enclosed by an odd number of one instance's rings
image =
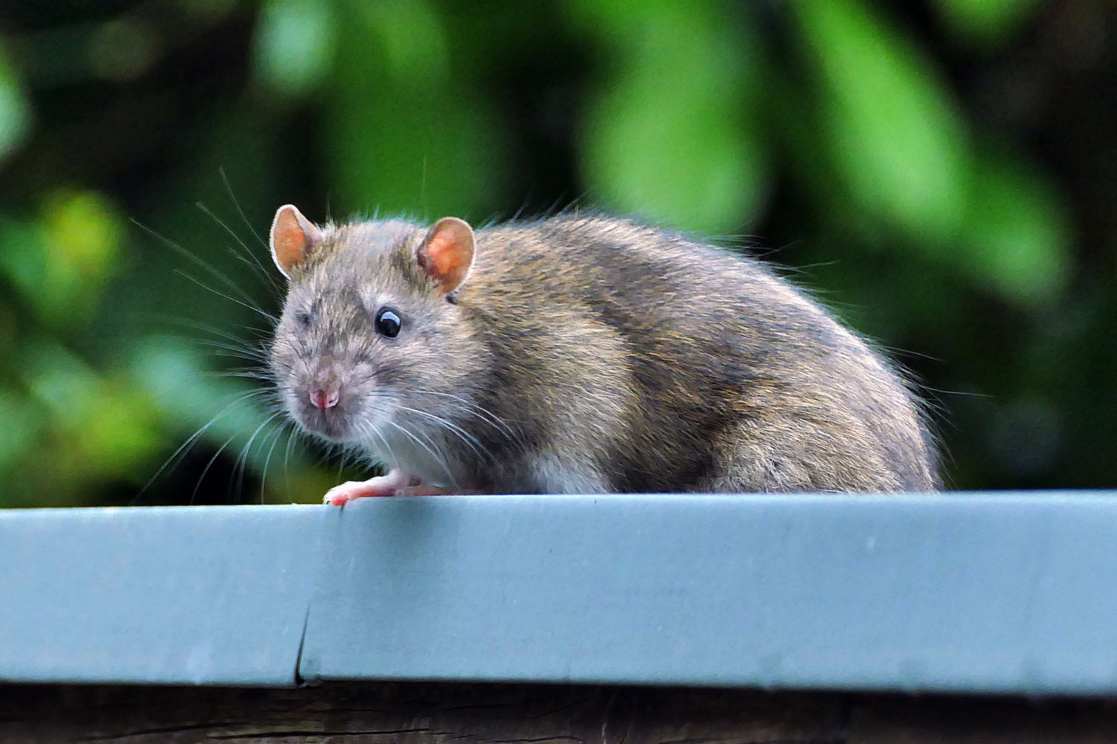
[[[418,0],[378,3],[343,29],[326,139],[343,214],[478,221],[503,205],[505,126],[464,55],[438,61],[454,48],[438,18]],[[433,51],[412,68],[416,50]]]

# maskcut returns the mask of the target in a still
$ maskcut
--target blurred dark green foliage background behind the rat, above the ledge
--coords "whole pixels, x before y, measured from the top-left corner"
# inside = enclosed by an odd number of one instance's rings
[[[720,239],[911,370],[953,487],[1113,486],[1115,134],[1106,0],[6,0],[0,506],[345,475],[252,371],[287,202]]]

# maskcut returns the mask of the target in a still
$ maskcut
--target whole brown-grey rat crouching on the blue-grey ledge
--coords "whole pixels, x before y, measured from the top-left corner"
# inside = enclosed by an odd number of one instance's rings
[[[307,433],[438,493],[938,487],[923,409],[763,262],[604,214],[316,225],[281,206],[269,350]]]

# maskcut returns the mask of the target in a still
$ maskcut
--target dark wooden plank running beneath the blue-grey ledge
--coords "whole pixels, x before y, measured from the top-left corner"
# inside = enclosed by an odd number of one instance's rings
[[[1100,744],[1113,700],[431,683],[0,686],[0,743]]]

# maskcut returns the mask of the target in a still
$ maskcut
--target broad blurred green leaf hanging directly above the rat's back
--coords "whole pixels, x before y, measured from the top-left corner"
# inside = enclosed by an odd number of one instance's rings
[[[735,232],[758,215],[767,157],[757,137],[753,39],[715,2],[575,7],[620,60],[586,119],[584,167],[621,212]]]

